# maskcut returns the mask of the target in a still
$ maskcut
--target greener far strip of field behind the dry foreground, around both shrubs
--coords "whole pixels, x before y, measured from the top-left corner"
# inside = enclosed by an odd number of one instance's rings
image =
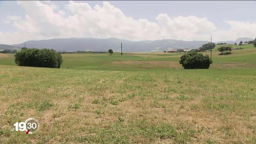
[[[61,68],[86,70],[164,70],[179,69],[180,56],[184,53],[125,53],[109,54],[62,54]],[[210,52],[203,52],[209,54]],[[214,63],[211,68],[248,68],[256,67],[256,48],[233,50],[230,55],[212,52]],[[13,65],[14,54],[0,54],[0,65]]]

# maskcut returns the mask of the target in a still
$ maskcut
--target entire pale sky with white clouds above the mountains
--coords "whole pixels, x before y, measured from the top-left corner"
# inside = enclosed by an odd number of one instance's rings
[[[0,44],[256,37],[256,1],[0,1]]]

